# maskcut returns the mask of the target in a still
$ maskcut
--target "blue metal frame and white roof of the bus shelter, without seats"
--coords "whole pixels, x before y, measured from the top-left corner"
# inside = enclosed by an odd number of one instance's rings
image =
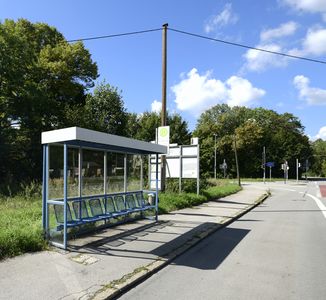
[[[63,242],[58,243],[50,241],[54,246],[67,249],[67,223],[68,220],[68,201],[72,199],[82,199],[82,165],[83,149],[103,151],[104,165],[104,195],[107,195],[107,154],[120,153],[124,154],[124,192],[127,192],[127,155],[150,155],[155,154],[158,158],[159,154],[165,154],[167,147],[153,143],[143,142],[135,139],[121,137],[112,134],[106,134],[98,131],[84,129],[80,127],[69,127],[64,129],[42,132],[41,143],[43,145],[43,185],[42,185],[42,223],[46,238],[49,239],[49,205],[63,206]],[[49,174],[50,174],[50,145],[63,145],[63,198],[49,198]],[[78,197],[69,197],[68,195],[68,149],[78,149],[78,179],[79,179],[79,195]],[[157,159],[158,161],[158,159]],[[143,182],[143,172],[141,169],[141,185]],[[155,218],[157,220],[158,213],[158,164],[156,164],[156,189],[151,191],[155,194]],[[68,208],[67,208],[68,207]]]

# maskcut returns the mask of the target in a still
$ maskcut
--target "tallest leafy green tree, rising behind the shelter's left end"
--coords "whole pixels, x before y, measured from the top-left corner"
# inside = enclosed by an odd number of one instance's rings
[[[6,131],[1,138],[10,164],[6,177],[40,178],[41,132],[69,123],[67,107],[85,103],[96,77],[97,66],[81,42],[69,44],[43,23],[0,23],[0,115],[1,131]]]

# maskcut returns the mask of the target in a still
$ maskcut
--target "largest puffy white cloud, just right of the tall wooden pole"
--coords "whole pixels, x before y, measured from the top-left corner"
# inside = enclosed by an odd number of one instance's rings
[[[193,68],[182,80],[171,87],[177,108],[199,115],[218,103],[230,106],[250,105],[265,95],[265,91],[254,87],[247,79],[232,76],[225,82],[212,78],[208,71],[200,75]]]

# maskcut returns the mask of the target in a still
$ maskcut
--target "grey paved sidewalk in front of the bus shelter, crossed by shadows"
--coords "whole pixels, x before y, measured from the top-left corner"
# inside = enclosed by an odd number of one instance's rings
[[[74,241],[71,251],[25,254],[0,263],[0,299],[106,299],[164,267],[266,197],[237,194]]]

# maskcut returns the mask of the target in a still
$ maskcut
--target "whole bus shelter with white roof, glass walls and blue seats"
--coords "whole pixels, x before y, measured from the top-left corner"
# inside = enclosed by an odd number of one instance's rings
[[[42,132],[41,142],[42,222],[52,245],[67,249],[80,228],[110,226],[135,215],[157,220],[159,167],[155,189],[144,190],[143,158],[154,154],[158,161],[165,146],[79,127]]]

